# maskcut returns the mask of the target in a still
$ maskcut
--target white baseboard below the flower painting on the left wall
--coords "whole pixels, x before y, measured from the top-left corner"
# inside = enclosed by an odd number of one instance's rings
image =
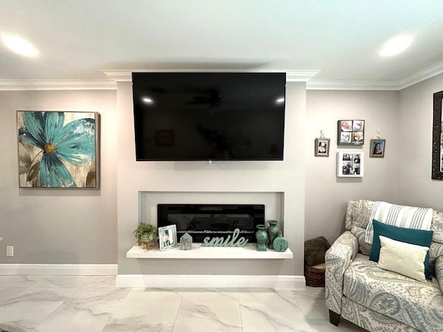
[[[117,264],[0,264],[0,275],[117,275]]]

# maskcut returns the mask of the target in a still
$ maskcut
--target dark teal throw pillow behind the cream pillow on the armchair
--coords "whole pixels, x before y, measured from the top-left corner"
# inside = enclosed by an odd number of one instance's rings
[[[372,240],[372,248],[369,255],[370,261],[379,261],[381,248],[380,235],[395,241],[415,244],[417,246],[431,246],[432,230],[415,230],[413,228],[397,227],[381,223],[375,219],[372,219],[372,227],[374,228],[374,239]],[[431,268],[429,267],[429,251],[424,258],[424,276],[426,279],[432,280]]]

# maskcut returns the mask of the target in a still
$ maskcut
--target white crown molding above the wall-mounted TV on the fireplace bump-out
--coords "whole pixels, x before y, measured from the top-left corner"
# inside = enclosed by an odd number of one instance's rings
[[[120,70],[120,71],[102,71],[109,78],[116,82],[131,82],[132,73],[286,73],[287,82],[308,82],[318,71],[282,71],[282,70],[262,70],[262,71],[239,71],[239,70]]]

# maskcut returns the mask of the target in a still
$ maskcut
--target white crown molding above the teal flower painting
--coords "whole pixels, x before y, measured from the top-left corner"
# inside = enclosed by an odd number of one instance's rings
[[[0,91],[116,89],[111,80],[0,80]]]

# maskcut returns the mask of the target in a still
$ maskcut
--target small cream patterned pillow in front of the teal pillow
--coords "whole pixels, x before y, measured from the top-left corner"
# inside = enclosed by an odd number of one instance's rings
[[[377,266],[383,270],[406,275],[426,282],[424,277],[424,257],[428,252],[428,247],[416,246],[401,241],[395,241],[380,235],[380,258]]]

